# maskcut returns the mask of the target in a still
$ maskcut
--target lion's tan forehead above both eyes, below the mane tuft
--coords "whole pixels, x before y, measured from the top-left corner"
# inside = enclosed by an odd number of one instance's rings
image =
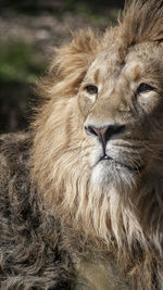
[[[153,71],[160,67],[160,49],[153,43],[137,45],[122,56],[121,48],[102,51],[90,65],[87,78],[106,89],[122,87],[123,81],[139,81],[140,78],[156,77]],[[127,84],[126,84],[127,85]]]

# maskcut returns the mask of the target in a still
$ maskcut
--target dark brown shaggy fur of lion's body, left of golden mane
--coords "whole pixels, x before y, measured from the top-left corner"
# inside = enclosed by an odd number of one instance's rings
[[[30,181],[29,147],[25,135],[0,139],[0,289],[71,289],[60,223],[42,215]]]

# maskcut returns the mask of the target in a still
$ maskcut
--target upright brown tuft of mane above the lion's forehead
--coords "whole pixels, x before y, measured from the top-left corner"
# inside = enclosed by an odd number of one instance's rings
[[[123,18],[124,41],[134,45],[162,40],[162,0],[126,1]]]

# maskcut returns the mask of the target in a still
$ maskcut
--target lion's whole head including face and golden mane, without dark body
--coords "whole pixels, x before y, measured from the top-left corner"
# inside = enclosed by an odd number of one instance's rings
[[[163,8],[133,1],[103,36],[59,48],[34,127],[34,176],[55,214],[106,243],[162,251]]]

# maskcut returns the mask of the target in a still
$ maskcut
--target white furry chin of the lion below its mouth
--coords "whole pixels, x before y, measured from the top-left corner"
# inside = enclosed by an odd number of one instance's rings
[[[135,176],[141,172],[141,167],[134,167],[113,159],[102,159],[93,166],[91,182],[109,188],[111,185],[134,184]]]

